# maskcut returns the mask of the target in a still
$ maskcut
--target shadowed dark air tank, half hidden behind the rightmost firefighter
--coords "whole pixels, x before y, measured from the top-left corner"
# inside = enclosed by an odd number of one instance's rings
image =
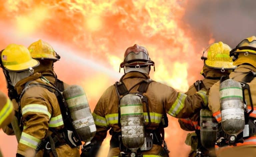
[[[201,144],[207,149],[214,148],[217,140],[218,122],[209,109],[200,110],[200,138]]]

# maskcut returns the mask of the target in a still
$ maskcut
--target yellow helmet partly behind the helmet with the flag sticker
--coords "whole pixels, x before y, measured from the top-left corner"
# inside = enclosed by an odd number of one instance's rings
[[[34,59],[52,59],[55,61],[60,59],[52,46],[41,39],[29,45],[28,50]]]

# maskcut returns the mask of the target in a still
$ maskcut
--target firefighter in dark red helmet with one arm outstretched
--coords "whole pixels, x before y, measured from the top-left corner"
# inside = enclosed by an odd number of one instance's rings
[[[97,128],[96,135],[90,145],[84,146],[81,156],[96,156],[110,128],[112,138],[109,157],[168,156],[169,152],[164,141],[163,129],[168,125],[166,113],[177,118],[188,118],[194,112],[207,106],[206,91],[200,90],[192,96],[177,92],[172,87],[151,80],[149,77],[151,66],[154,66],[154,62],[149,58],[145,47],[135,44],[127,48],[124,62],[120,65],[120,68],[124,68],[124,75],[120,82],[110,86],[99,99],[93,112]],[[128,102],[133,103],[131,106],[124,105],[127,97]],[[135,102],[135,99],[138,102]],[[137,127],[133,122],[126,123],[124,120],[127,118],[129,120],[129,117],[134,119],[134,123],[140,123],[140,125]],[[129,131],[129,127],[139,129]],[[142,140],[140,142],[143,144],[143,137],[145,136],[145,144],[148,143],[149,145],[144,144],[137,150],[127,149],[124,146],[124,140],[127,142],[128,139],[129,141],[127,133],[133,136],[130,138],[131,142],[134,141],[136,144],[136,140]],[[126,143],[126,146],[127,144],[133,145],[129,142]]]

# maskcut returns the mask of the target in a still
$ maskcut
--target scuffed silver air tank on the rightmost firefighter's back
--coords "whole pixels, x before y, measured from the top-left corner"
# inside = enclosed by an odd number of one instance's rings
[[[233,143],[236,136],[244,129],[244,102],[242,86],[233,79],[220,84],[221,126],[224,132],[231,135]]]

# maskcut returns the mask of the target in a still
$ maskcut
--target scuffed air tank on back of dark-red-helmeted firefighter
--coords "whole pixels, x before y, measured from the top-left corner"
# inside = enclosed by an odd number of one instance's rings
[[[123,145],[136,152],[144,144],[144,115],[141,97],[127,94],[120,101]]]

